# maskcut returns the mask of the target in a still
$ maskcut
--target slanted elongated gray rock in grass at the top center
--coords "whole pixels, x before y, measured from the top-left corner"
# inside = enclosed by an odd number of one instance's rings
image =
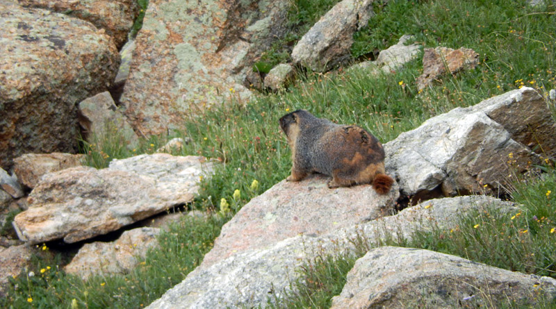
[[[295,63],[324,72],[350,58],[353,33],[367,26],[373,0],[343,0],[321,17],[293,48]]]

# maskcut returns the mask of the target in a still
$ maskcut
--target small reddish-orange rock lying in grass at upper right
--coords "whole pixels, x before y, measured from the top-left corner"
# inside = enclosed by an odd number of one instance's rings
[[[423,55],[423,74],[417,78],[417,86],[423,89],[447,72],[456,74],[462,69],[474,69],[479,64],[479,54],[473,49],[449,49],[436,47],[425,49]]]

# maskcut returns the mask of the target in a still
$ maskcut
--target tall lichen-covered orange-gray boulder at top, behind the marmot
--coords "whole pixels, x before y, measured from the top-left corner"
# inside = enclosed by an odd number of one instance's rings
[[[287,0],[149,1],[121,103],[145,135],[183,117],[245,100],[245,74],[284,32]]]

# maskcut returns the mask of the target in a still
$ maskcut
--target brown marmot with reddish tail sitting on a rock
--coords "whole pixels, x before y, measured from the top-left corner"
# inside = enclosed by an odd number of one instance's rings
[[[390,191],[394,181],[384,173],[382,144],[365,129],[334,124],[306,110],[281,117],[280,128],[292,152],[291,176],[286,181],[318,172],[332,176],[330,188],[372,183],[379,194]]]

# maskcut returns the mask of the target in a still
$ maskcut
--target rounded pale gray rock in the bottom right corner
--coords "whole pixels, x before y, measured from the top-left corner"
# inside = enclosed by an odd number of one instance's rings
[[[355,262],[332,308],[465,308],[556,297],[556,280],[423,249],[380,247]]]

